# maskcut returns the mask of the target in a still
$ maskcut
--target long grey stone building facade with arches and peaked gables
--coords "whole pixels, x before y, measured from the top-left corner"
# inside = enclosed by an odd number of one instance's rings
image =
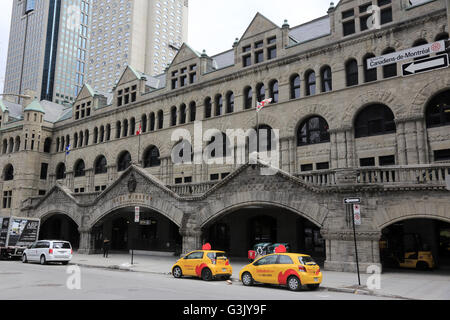
[[[362,199],[362,268],[380,264],[391,225],[447,228],[448,69],[402,77],[401,63],[366,68],[369,57],[448,39],[446,2],[373,1],[382,23],[366,30],[371,3],[341,1],[296,27],[257,14],[231,50],[210,57],[184,44],[165,74],[129,66],[111,96],[85,85],[72,108],[3,101],[0,214],[40,217],[48,236],[72,229],[59,236],[80,252],[105,237],[117,249],[171,252],[210,241],[237,256],[257,241],[289,242],[330,270],[355,268],[344,198]],[[196,126],[255,128],[256,101],[268,97],[258,123],[279,130],[275,174],[248,154],[243,164],[174,164],[173,150],[207,149]],[[424,238],[435,238],[431,229]]]

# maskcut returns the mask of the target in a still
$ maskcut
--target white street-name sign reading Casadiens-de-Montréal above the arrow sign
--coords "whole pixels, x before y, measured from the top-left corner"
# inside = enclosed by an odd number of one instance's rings
[[[445,51],[444,40],[428,43],[423,46],[417,46],[398,52],[388,53],[383,56],[367,59],[367,69],[374,69],[377,67],[386,66],[388,64],[420,58],[428,56],[432,53],[439,53],[443,51]]]

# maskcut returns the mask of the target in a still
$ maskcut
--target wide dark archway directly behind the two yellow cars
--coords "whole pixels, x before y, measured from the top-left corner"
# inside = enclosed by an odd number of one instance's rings
[[[202,242],[232,257],[247,257],[257,243],[289,243],[291,252],[325,260],[320,227],[299,214],[275,205],[249,205],[230,210],[203,226]]]

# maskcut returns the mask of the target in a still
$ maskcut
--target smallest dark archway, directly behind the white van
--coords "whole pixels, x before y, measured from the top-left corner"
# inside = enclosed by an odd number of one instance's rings
[[[65,214],[54,214],[42,219],[39,240],[65,240],[72,244],[72,248],[78,249],[80,245],[78,225]]]

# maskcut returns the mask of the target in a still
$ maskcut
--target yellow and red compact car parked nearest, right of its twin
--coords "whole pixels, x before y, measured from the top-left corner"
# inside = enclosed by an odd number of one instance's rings
[[[239,273],[245,286],[255,282],[286,285],[298,291],[302,285],[315,290],[322,283],[322,272],[314,260],[299,253],[275,253],[245,266]]]

